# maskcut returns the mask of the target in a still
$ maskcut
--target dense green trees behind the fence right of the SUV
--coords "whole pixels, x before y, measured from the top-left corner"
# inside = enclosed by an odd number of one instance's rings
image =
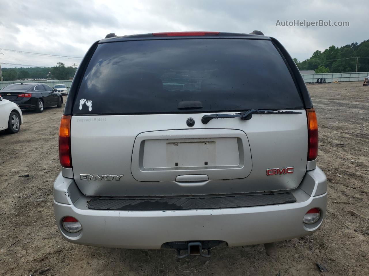
[[[369,57],[369,40],[365,40],[360,44],[354,42],[342,47],[332,45],[323,52],[315,51],[310,59],[296,64],[300,70],[315,70],[319,73],[355,72],[355,57]],[[369,58],[359,58],[358,72],[368,72],[368,70]]]

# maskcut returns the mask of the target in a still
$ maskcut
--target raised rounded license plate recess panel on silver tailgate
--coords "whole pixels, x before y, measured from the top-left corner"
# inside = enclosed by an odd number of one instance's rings
[[[190,174],[217,180],[247,177],[251,167],[245,132],[207,129],[139,134],[131,170],[138,181],[175,181],[179,175]]]

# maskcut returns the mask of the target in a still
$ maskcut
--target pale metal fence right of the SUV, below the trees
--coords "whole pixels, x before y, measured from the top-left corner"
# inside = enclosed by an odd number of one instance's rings
[[[304,74],[302,75],[305,82],[316,82],[317,79],[323,78],[327,82],[334,81],[364,81],[369,72],[352,72],[352,73],[326,73],[326,74]]]

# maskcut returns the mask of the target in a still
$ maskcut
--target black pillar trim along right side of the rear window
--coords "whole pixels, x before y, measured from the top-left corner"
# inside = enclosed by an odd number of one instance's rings
[[[286,59],[287,64],[289,65],[292,71],[293,74],[292,77],[296,80],[296,84],[298,85],[298,88],[300,90],[305,108],[313,108],[313,103],[311,102],[311,98],[309,92],[307,91],[305,81],[301,76],[300,70],[299,68],[297,68],[296,63],[293,61],[290,54],[287,52],[286,49],[284,49],[283,45],[280,44],[280,42],[277,39],[272,37],[270,37],[270,39],[272,39],[272,42],[275,44],[277,49],[283,54],[284,59]]]

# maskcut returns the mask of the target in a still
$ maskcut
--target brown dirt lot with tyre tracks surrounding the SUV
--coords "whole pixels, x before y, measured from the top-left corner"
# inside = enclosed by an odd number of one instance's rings
[[[61,108],[24,112],[15,135],[0,132],[0,275],[369,275],[369,87],[308,85],[318,114],[318,165],[328,177],[328,214],[317,233],[277,243],[218,248],[211,259],[177,261],[175,251],[74,245],[52,209],[59,173]],[[19,177],[30,174],[30,177]],[[321,273],[315,263],[327,267]]]

